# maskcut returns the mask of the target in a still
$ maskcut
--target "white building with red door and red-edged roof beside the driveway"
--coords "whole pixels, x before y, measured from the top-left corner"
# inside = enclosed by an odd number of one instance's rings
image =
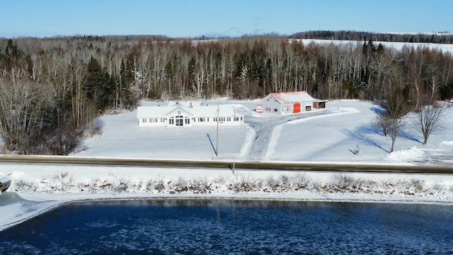
[[[326,108],[326,101],[312,98],[306,91],[271,93],[256,105],[257,113],[287,115]]]

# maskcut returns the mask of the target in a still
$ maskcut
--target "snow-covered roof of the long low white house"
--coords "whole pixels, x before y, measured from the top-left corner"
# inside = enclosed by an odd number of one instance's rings
[[[217,113],[217,110],[219,110],[219,113]],[[137,107],[137,118],[161,118],[176,111],[183,111],[193,117],[241,116],[236,114],[234,106],[231,105],[193,106],[190,108],[178,104],[176,106],[139,106]]]

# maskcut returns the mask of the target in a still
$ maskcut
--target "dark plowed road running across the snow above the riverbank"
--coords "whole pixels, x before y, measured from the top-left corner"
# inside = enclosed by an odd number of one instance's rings
[[[272,170],[272,171],[348,171],[348,172],[388,172],[417,174],[453,174],[453,166],[395,166],[376,164],[306,164],[278,162],[233,162],[217,160],[173,160],[173,159],[114,159],[4,155],[0,156],[1,164],[79,164],[102,166],[143,166],[200,169],[234,169]]]

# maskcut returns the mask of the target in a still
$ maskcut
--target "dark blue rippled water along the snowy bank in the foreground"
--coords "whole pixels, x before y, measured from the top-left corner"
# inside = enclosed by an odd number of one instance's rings
[[[0,254],[453,254],[453,207],[243,200],[74,203],[0,232]]]

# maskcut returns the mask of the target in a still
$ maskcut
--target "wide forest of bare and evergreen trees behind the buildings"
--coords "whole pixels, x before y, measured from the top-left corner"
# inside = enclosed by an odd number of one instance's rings
[[[311,43],[278,36],[171,40],[147,36],[0,39],[4,151],[69,154],[96,116],[151,100],[403,98],[416,108],[453,97],[453,59],[428,47],[373,40]]]

